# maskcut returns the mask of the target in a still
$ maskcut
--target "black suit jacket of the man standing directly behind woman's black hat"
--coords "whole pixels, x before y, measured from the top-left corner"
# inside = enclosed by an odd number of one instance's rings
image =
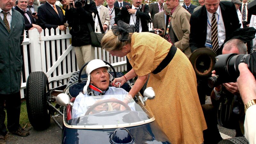
[[[142,4],[141,4],[141,6],[142,6]],[[129,12],[127,11],[127,7],[124,6],[121,9],[121,11],[116,15],[115,23],[117,23],[118,20],[122,20],[127,24],[130,23],[131,14],[129,14]],[[132,8],[132,5],[129,5],[129,7]],[[145,4],[144,12],[142,12],[142,11],[143,11],[142,8],[140,8],[140,10],[138,12],[136,12],[136,17],[140,17],[142,32],[147,32],[148,31],[148,20],[150,19],[150,16],[148,14],[149,8],[148,8],[147,4]]]

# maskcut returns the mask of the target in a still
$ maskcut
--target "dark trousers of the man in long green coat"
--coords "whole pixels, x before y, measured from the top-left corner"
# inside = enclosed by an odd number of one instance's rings
[[[7,130],[4,124],[5,108],[7,112],[7,128],[9,131],[16,131],[20,126],[20,91],[12,94],[0,94],[0,135],[6,135]]]

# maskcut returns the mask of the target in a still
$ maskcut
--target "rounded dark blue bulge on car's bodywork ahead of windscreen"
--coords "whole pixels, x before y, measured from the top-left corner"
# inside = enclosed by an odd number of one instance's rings
[[[134,137],[126,128],[117,128],[110,134],[109,141],[112,144],[132,144]]]

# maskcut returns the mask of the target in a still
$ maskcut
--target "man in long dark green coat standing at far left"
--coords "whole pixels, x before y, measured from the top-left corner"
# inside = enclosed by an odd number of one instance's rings
[[[0,0],[0,143],[5,142],[4,136],[7,133],[4,101],[9,132],[19,136],[29,135],[20,127],[20,44],[23,41],[25,21],[12,6],[13,0]]]

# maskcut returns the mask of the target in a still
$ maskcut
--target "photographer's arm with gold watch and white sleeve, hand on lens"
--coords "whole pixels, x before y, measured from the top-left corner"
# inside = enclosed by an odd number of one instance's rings
[[[244,136],[250,144],[256,143],[256,81],[245,63],[238,65],[238,89],[245,105]]]

